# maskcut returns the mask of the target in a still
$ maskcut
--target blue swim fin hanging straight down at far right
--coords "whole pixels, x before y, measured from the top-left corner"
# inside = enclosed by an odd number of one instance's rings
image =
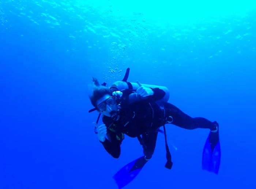
[[[218,174],[220,163],[219,131],[210,132],[204,145],[202,169]]]

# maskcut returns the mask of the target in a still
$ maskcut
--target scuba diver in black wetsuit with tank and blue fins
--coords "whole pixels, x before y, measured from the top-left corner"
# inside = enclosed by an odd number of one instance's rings
[[[97,110],[98,120],[102,114],[103,124],[95,123],[95,133],[105,150],[114,158],[120,156],[120,145],[124,135],[138,138],[143,147],[143,156],[127,164],[114,175],[119,188],[127,185],[151,159],[158,132],[165,135],[167,169],[172,168],[172,158],[166,139],[165,124],[173,124],[185,129],[210,129],[203,151],[203,169],[218,173],[220,164],[219,124],[203,117],[190,117],[173,104],[168,103],[169,91],[163,86],[142,85],[127,82],[129,68],[122,81],[110,88],[106,83],[99,84],[93,78],[94,89],[90,96],[91,104]],[[160,127],[163,126],[163,130]]]

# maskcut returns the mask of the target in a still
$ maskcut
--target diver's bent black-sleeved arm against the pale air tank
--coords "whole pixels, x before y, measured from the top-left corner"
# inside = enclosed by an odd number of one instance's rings
[[[140,100],[157,101],[165,96],[165,91],[159,88],[150,88],[153,90],[153,95],[142,97],[138,93],[131,93],[129,95],[129,104]]]

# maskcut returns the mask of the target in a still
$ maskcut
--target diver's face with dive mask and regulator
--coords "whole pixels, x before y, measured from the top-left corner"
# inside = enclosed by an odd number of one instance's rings
[[[117,111],[116,100],[110,95],[104,95],[96,104],[98,112],[105,116],[111,117],[112,113]]]

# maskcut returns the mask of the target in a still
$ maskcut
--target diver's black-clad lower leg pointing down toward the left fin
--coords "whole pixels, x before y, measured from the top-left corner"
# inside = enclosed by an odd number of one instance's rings
[[[151,132],[150,134],[142,135],[142,140],[144,142],[143,153],[146,159],[150,159],[155,150],[155,144],[157,142],[157,134],[158,132]]]

